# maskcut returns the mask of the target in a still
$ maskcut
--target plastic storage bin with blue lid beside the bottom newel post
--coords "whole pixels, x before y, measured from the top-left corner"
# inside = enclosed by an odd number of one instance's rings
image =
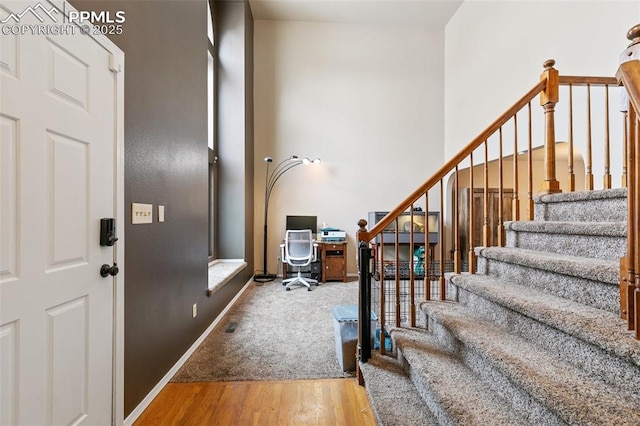
[[[333,307],[333,329],[336,340],[336,356],[342,371],[356,369],[358,347],[358,305]],[[371,312],[371,341],[373,342],[378,317]]]

